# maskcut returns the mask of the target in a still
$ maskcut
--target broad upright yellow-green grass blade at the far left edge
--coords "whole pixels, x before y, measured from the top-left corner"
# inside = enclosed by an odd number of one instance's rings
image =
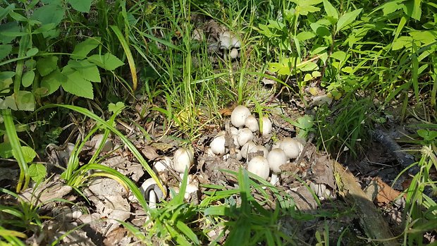
[[[29,185],[29,181],[30,181],[29,168],[25,161],[23,151],[21,150],[20,140],[18,139],[16,126],[13,124],[11,109],[2,109],[1,115],[3,116],[4,119],[6,135],[8,135],[9,142],[11,143],[14,157],[18,162],[18,166],[20,166],[20,178],[18,178],[18,184],[16,187],[16,192],[18,193],[20,192],[20,190],[25,190]]]

